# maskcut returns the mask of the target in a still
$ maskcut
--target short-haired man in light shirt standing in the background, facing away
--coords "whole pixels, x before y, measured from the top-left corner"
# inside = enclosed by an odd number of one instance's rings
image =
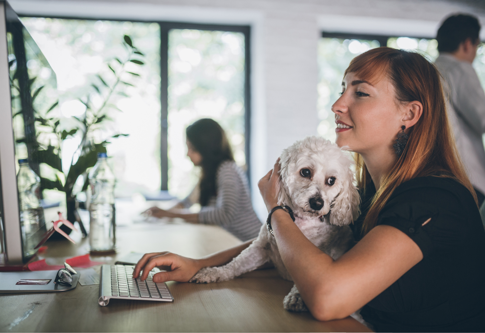
[[[436,67],[443,76],[456,145],[477,194],[485,200],[485,92],[472,62],[480,43],[480,24],[472,15],[448,17],[438,30]]]

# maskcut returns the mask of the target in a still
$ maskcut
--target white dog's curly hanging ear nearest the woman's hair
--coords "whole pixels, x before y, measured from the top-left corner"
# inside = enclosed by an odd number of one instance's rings
[[[330,205],[330,223],[345,226],[359,216],[360,196],[354,186],[354,174],[349,168],[345,179],[341,179],[342,189]]]

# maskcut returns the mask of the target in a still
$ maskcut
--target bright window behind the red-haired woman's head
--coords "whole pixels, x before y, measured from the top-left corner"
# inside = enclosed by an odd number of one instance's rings
[[[331,110],[339,98],[343,73],[357,55],[379,46],[408,49],[420,52],[429,61],[438,57],[435,39],[410,38],[405,36],[377,36],[340,33],[323,33],[318,45],[318,133],[335,141],[335,121]],[[478,77],[485,87],[485,46],[480,45],[473,62]]]

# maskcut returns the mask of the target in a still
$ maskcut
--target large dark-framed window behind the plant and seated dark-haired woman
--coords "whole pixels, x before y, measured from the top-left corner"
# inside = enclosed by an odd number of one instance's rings
[[[66,133],[85,114],[83,102],[89,99],[94,108],[107,102],[111,121],[92,136],[98,143],[110,141],[117,197],[160,189],[186,195],[197,170],[186,157],[185,128],[200,118],[219,121],[238,165],[248,163],[248,27],[44,17],[22,22],[57,75],[54,112]],[[142,53],[136,59],[143,64],[128,61],[110,91],[116,66],[130,51],[124,35]],[[63,141],[65,170],[80,142],[76,133]]]

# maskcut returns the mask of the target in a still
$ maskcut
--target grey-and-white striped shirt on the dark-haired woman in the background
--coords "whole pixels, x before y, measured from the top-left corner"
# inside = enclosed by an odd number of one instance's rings
[[[241,241],[257,237],[261,221],[251,204],[246,175],[234,161],[222,162],[217,169],[216,191],[217,196],[201,208],[199,223],[221,226]],[[182,201],[185,207],[198,201],[197,192],[198,188]]]

